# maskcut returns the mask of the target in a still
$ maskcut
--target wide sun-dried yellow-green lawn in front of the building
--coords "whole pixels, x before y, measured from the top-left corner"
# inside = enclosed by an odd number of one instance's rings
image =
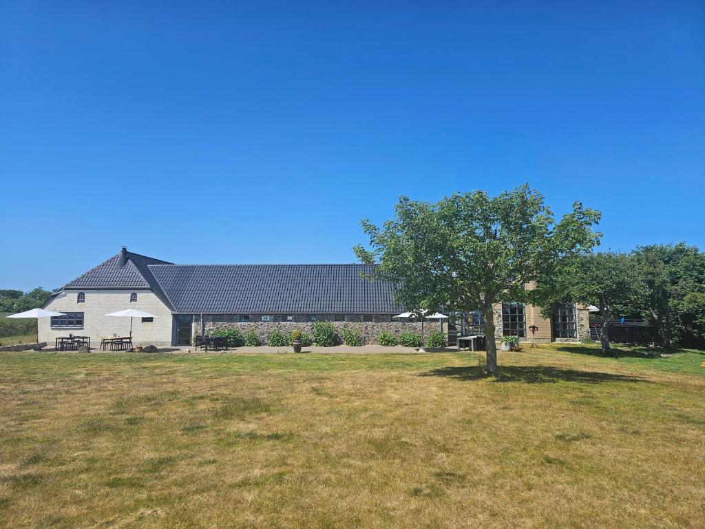
[[[705,355],[0,353],[0,527],[705,527]]]

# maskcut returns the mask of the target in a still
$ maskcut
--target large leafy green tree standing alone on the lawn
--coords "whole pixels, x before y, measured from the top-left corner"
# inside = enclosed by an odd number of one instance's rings
[[[437,203],[400,197],[395,212],[381,228],[362,221],[369,249],[357,245],[357,257],[379,264],[377,276],[397,284],[395,299],[405,310],[482,310],[491,374],[494,305],[526,300],[527,284],[599,241],[591,229],[599,212],[575,202],[556,222],[543,195],[527,185],[496,197],[456,193]]]

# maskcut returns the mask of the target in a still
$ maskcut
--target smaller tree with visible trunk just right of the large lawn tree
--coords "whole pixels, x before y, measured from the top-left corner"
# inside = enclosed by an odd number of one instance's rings
[[[624,253],[592,253],[565,262],[556,274],[539,286],[544,311],[553,303],[570,299],[595,305],[602,315],[599,332],[603,353],[611,351],[611,319],[631,315],[644,296],[644,284],[635,258]]]

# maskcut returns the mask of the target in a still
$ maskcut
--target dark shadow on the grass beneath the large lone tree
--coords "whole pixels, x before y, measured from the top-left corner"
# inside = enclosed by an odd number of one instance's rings
[[[441,367],[422,373],[421,377],[447,377],[456,380],[470,381],[489,378],[494,382],[525,382],[527,384],[551,384],[554,382],[648,382],[639,377],[628,375],[613,375],[598,371],[578,371],[561,369],[560,367],[534,366],[525,367],[505,365],[498,368],[496,377],[488,377],[478,365],[465,367]]]

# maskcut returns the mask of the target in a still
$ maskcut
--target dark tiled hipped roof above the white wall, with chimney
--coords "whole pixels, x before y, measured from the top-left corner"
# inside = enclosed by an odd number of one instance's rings
[[[82,276],[70,281],[63,288],[151,288],[166,303],[166,296],[161,286],[154,279],[149,265],[168,265],[170,263],[152,259],[145,255],[128,252],[128,261],[120,265],[121,255],[114,255]]]

